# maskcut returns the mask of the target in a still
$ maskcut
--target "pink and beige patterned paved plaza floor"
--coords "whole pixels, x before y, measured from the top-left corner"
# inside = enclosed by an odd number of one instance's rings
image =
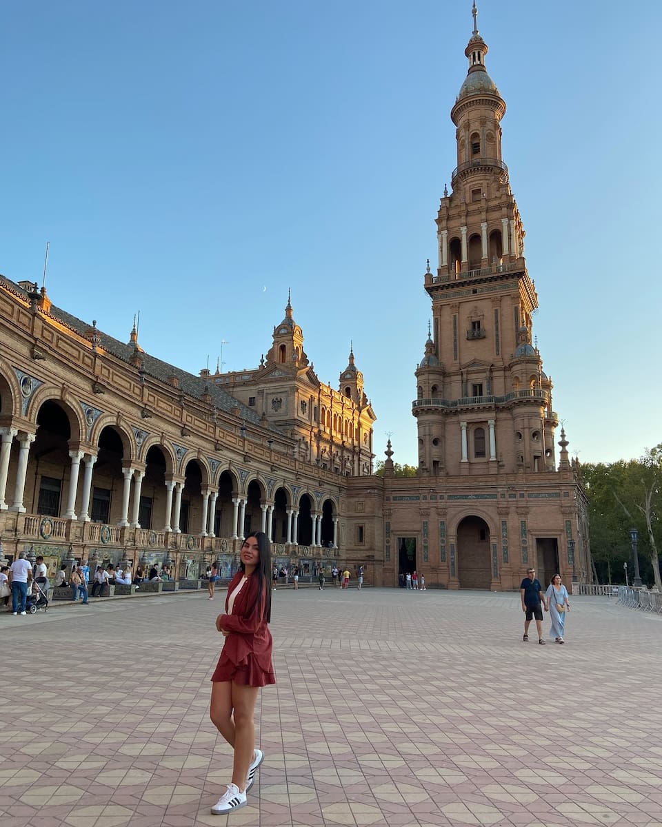
[[[248,805],[209,722],[224,593],[0,615],[0,825],[662,827],[662,619],[575,598],[279,590]],[[544,628],[549,632],[549,619]]]

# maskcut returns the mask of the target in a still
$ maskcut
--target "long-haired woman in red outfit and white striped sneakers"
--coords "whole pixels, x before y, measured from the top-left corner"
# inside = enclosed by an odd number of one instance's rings
[[[228,586],[226,614],[219,614],[216,628],[225,638],[221,657],[212,676],[209,717],[234,749],[233,780],[212,807],[213,815],[246,805],[257,767],[264,759],[255,748],[253,711],[261,686],[276,683],[271,663],[271,543],[265,533],[254,531],[243,541],[241,566]]]

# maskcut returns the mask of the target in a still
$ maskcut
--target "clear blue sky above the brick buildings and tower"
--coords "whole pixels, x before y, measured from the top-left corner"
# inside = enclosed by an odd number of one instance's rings
[[[580,461],[662,441],[662,4],[481,0],[534,334]],[[350,340],[416,464],[434,218],[471,0],[5,2],[0,272],[198,372],[257,366],[292,291],[319,378]],[[658,241],[655,241],[655,239]]]

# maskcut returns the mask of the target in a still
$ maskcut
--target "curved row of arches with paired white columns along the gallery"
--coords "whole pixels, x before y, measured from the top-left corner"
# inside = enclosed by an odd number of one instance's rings
[[[337,504],[323,492],[233,468],[102,412],[83,418],[90,438],[81,440],[81,418],[67,399],[32,404],[34,434],[19,434],[5,399],[0,394],[2,422],[10,422],[2,428],[0,502],[13,483],[10,508],[226,537],[268,525],[276,542],[337,543]],[[85,414],[84,403],[80,409]]]

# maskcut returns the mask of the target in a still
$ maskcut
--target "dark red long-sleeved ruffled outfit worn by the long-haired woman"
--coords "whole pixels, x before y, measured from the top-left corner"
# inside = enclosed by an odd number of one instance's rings
[[[228,600],[242,581],[243,572],[237,571],[228,586]],[[265,618],[266,595],[269,583],[262,586],[261,605],[257,605],[257,573],[253,573],[234,599],[231,614],[223,614],[223,629],[229,634],[224,638],[223,651],[212,675],[212,681],[233,681],[242,686],[268,686],[276,683],[271,662],[273,639]]]

